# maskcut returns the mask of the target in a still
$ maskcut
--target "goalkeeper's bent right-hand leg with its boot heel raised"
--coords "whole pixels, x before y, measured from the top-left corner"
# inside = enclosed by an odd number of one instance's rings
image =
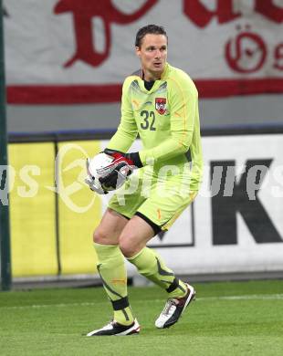
[[[194,288],[175,277],[173,270],[146,243],[155,235],[154,227],[140,216],[133,216],[125,225],[119,240],[121,252],[137,267],[139,273],[165,289],[168,301],[160,317],[157,328],[168,328],[181,317],[183,310],[194,299]]]

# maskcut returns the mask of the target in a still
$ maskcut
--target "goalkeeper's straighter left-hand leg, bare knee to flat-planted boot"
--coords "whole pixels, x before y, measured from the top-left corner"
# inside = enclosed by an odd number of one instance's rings
[[[127,273],[124,257],[118,246],[119,236],[127,223],[128,219],[108,209],[94,233],[98,271],[112,304],[115,324],[112,322],[101,330],[91,331],[88,336],[130,334],[136,332],[139,327],[129,305]]]

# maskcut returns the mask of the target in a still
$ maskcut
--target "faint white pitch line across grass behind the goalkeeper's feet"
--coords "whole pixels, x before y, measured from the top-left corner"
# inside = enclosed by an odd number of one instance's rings
[[[251,294],[244,296],[223,296],[223,297],[201,297],[197,298],[197,301],[211,301],[211,300],[282,300],[283,294]],[[164,299],[152,299],[151,302],[162,302]],[[82,303],[59,303],[59,304],[34,304],[34,305],[26,305],[26,306],[5,306],[1,307],[1,309],[41,309],[41,308],[66,308],[66,307],[89,307],[98,304],[104,304],[106,299],[103,301],[95,301],[95,302],[82,302]],[[139,301],[136,301],[136,303]],[[144,300],[140,301],[144,303]]]

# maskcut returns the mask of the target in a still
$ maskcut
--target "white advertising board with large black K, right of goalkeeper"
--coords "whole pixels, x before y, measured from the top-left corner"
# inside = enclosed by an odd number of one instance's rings
[[[204,137],[203,147],[202,189],[152,243],[181,274],[283,271],[283,134]]]

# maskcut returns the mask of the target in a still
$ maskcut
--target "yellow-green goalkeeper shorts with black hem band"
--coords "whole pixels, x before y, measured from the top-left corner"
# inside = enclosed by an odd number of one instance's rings
[[[182,175],[160,179],[139,170],[112,196],[109,207],[129,219],[139,215],[152,227],[168,230],[196,195]]]

